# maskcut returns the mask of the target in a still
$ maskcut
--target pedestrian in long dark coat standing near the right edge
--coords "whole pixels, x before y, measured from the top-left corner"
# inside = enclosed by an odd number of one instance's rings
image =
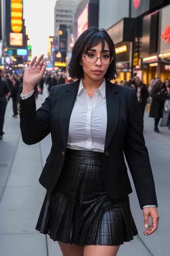
[[[150,107],[149,116],[155,118],[155,128],[154,131],[159,133],[158,125],[160,119],[163,117],[164,103],[167,98],[167,89],[165,85],[162,84],[160,78],[155,80],[155,83],[151,90],[152,103]]]

